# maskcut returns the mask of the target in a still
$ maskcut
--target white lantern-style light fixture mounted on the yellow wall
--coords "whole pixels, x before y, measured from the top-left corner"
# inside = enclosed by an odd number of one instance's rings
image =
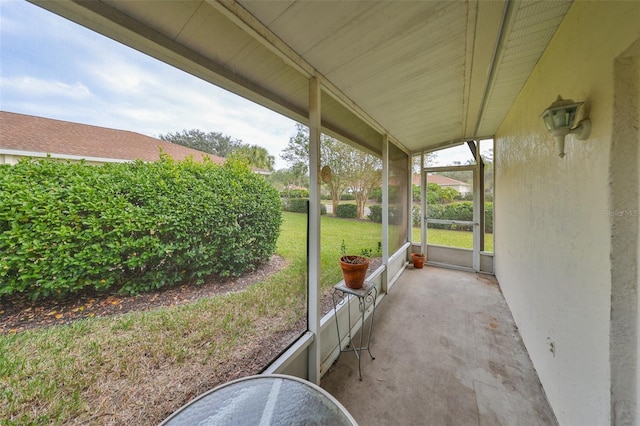
[[[574,102],[571,99],[562,99],[558,95],[558,99],[542,113],[544,125],[549,133],[556,139],[558,146],[558,155],[564,157],[564,137],[568,134],[575,134],[579,140],[585,140],[591,133],[591,120],[585,118],[580,121],[576,127],[573,124],[576,121],[578,110],[584,102]]]

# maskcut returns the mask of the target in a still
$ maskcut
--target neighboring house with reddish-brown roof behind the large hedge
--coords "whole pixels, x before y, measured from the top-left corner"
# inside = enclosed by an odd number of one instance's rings
[[[225,159],[217,155],[172,144],[127,130],[52,120],[0,111],[0,164],[15,164],[22,158],[50,158],[89,164],[157,161],[160,152],[181,161],[208,157],[216,164]]]

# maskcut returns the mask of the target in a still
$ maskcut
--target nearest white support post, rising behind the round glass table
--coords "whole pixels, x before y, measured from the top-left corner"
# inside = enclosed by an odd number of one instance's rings
[[[320,385],[320,81],[309,80],[309,248],[308,326],[313,333],[309,346],[309,381]]]

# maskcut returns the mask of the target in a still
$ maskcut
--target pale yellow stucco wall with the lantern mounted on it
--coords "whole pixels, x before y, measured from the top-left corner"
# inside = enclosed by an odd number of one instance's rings
[[[612,420],[614,62],[638,37],[640,2],[575,2],[495,138],[496,276],[560,424]],[[593,124],[564,158],[539,118],[559,94]]]

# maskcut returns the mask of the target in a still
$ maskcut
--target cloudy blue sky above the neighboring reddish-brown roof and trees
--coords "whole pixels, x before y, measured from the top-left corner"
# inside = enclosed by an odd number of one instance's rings
[[[0,0],[0,110],[152,137],[199,129],[266,148],[295,122],[22,0]]]

